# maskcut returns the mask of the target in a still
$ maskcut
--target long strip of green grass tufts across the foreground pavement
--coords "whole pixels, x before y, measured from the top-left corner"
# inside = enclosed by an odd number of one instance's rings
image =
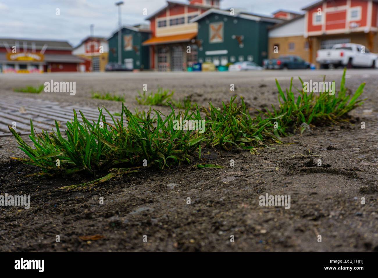
[[[74,110],[74,120],[66,123],[65,136],[61,134],[57,122],[56,131],[36,134],[31,121],[29,138],[33,141],[34,148],[28,146],[9,126],[20,145],[19,148],[29,157],[14,159],[38,166],[47,175],[86,172],[93,176],[96,172],[108,171],[107,175],[92,182],[67,187],[75,188],[133,173],[143,167],[144,162],[149,167],[159,169],[181,163],[189,164],[195,157],[201,157],[201,149],[204,147],[236,147],[254,152],[257,148],[268,147],[269,143],[280,143],[280,135],[288,135],[290,130],[300,128],[303,123],[324,124],[343,120],[346,113],[361,105],[358,98],[364,84],[353,96],[347,95],[344,71],[340,91],[333,96],[327,92],[315,95],[298,90],[299,96],[295,100],[292,83],[286,96],[278,82],[277,87],[280,106],[273,106],[272,112],[260,113],[257,116],[249,114],[243,98],[237,103],[237,96],[232,97],[228,103],[222,103],[221,107],[214,107],[209,103],[208,108],[200,110],[195,104],[195,111],[190,111],[188,107],[184,111],[176,112],[169,104],[171,112],[168,115],[158,110],[133,115],[122,103],[119,120],[115,120],[104,107],[106,113],[103,114],[103,109],[98,109],[98,121],[92,123],[79,111],[83,119],[81,123]],[[107,121],[107,118],[111,120]],[[174,123],[180,118],[182,121],[204,120],[205,128],[201,132],[177,130]],[[279,123],[277,128],[276,122]],[[59,167],[56,166],[57,160]],[[198,165],[198,168],[211,166],[203,166],[203,163]]]

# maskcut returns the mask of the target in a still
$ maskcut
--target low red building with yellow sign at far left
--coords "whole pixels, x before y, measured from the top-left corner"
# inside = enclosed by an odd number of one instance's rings
[[[66,41],[0,38],[0,71],[33,73],[79,71],[85,59],[72,55]]]

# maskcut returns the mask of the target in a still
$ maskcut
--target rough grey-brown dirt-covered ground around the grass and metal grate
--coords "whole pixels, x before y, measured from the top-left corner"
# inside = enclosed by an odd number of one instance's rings
[[[107,90],[127,95],[132,110],[147,110],[135,101],[136,90],[146,83],[152,90],[158,84],[174,89],[176,98],[191,95],[192,101],[202,105],[208,101],[219,105],[238,94],[251,107],[261,109],[277,104],[275,76],[286,88],[288,76],[320,81],[323,72],[217,74],[51,75],[54,81],[76,80],[76,98],[45,92],[26,95],[116,109],[119,103],[90,99],[91,89]],[[1,137],[0,193],[30,195],[31,207],[0,208],[0,251],[377,252],[378,73],[351,70],[347,75],[352,91],[367,82],[363,94],[367,100],[350,113],[351,123],[284,138],[287,144],[260,149],[258,155],[203,151],[207,152],[204,162],[223,165],[223,169],[142,170],[90,189],[65,191],[59,187],[93,177],[26,177],[38,169],[11,161],[10,156],[23,154],[15,149],[13,138]],[[327,76],[337,86],[341,71],[329,71]],[[13,93],[16,86],[49,80],[47,75],[21,80],[0,77],[0,96]],[[229,91],[231,83],[235,92]],[[361,129],[361,121],[366,129]],[[318,159],[322,167],[317,167]],[[260,206],[259,196],[266,193],[290,195],[290,209]]]

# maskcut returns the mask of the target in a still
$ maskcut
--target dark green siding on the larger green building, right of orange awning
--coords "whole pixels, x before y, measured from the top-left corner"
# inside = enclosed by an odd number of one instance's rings
[[[209,42],[209,24],[223,22],[223,42]],[[267,58],[268,51],[268,30],[267,27],[273,25],[270,22],[257,22],[255,20],[243,19],[237,16],[226,16],[216,13],[198,20],[197,39],[202,40],[202,50],[198,51],[198,58],[206,61],[206,58],[223,56],[235,57],[235,62],[239,61],[239,56],[244,56],[244,61],[248,61],[248,56],[253,56],[253,61],[262,65],[263,59]],[[232,35],[243,35],[244,47],[240,48],[237,39],[232,39]],[[227,54],[206,55],[206,51],[227,50]],[[264,53],[265,52],[265,53]],[[265,54],[265,56],[263,56]]]

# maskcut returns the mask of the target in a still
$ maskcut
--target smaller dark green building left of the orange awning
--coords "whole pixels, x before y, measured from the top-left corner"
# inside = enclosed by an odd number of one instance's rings
[[[137,26],[122,26],[121,63],[129,70],[150,68],[150,48],[142,42],[150,38],[151,30]],[[108,38],[109,62],[118,63],[118,30]]]

